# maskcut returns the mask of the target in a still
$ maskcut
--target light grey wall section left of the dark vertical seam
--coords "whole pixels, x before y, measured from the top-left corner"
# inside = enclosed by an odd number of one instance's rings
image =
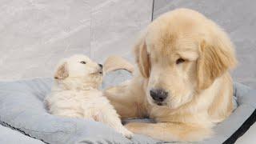
[[[50,77],[60,58],[131,56],[152,0],[0,0],[0,80]]]

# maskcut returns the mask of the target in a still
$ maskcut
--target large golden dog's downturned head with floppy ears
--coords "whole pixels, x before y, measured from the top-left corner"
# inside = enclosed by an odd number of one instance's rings
[[[148,79],[150,104],[173,109],[190,102],[236,64],[226,33],[187,9],[154,20],[136,43],[134,54],[140,73]]]

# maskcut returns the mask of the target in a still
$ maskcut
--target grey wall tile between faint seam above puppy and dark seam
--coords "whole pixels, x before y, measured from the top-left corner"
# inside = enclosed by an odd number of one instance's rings
[[[134,39],[151,18],[153,1],[106,1],[92,7],[91,57],[131,56]]]

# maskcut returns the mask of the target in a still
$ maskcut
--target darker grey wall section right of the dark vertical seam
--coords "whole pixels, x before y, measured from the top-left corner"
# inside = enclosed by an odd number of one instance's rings
[[[166,11],[186,7],[217,22],[236,46],[239,65],[233,72],[235,81],[256,88],[255,6],[255,0],[154,0],[154,18]]]

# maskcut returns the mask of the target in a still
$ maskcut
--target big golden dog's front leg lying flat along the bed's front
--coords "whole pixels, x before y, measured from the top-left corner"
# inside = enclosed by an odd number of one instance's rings
[[[132,122],[126,128],[134,134],[145,134],[162,141],[194,142],[209,138],[210,128],[183,123]]]

